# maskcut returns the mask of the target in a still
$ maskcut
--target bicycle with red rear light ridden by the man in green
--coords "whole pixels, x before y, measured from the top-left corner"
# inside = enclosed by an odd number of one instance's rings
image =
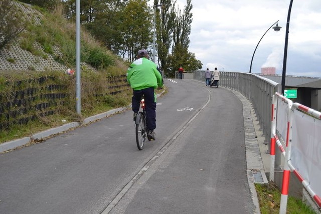
[[[144,97],[140,100],[141,111],[137,113],[135,121],[135,133],[136,133],[136,144],[139,150],[144,147],[144,143],[147,137],[147,124],[146,124],[146,112],[145,112],[145,101]]]

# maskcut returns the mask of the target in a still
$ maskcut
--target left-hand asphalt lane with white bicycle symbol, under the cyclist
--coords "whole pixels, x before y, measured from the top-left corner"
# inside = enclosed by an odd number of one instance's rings
[[[132,111],[83,125],[42,143],[0,154],[0,210],[4,213],[101,213],[164,145],[173,139],[208,91],[165,80],[157,99],[156,140],[136,147]]]

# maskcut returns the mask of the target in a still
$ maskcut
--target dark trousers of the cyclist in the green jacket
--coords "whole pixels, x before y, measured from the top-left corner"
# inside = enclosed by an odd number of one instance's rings
[[[147,129],[154,130],[156,128],[156,103],[154,97],[154,88],[145,88],[137,91],[133,90],[133,96],[131,99],[132,110],[134,112],[139,111],[139,103],[142,95],[144,95],[145,99]]]

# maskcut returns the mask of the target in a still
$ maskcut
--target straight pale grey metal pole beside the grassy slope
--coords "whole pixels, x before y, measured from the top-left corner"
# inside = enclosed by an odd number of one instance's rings
[[[80,0],[76,0],[76,111],[81,114],[80,86]]]

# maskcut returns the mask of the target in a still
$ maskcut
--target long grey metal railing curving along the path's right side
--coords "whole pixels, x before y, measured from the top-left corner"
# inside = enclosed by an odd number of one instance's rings
[[[205,71],[194,71],[193,79],[205,82],[204,74]],[[240,92],[252,103],[270,150],[272,97],[280,93],[281,85],[256,74],[222,71],[219,85]]]

